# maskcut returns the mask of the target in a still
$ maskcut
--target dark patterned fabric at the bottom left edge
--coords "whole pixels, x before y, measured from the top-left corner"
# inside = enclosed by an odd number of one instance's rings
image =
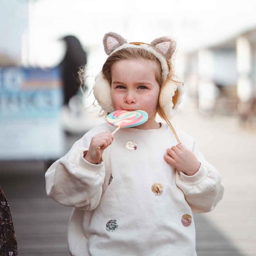
[[[17,256],[17,241],[8,201],[0,186],[0,256]]]

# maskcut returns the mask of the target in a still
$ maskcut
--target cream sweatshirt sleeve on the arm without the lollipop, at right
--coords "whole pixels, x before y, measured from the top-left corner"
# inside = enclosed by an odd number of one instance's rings
[[[176,184],[183,191],[193,213],[210,212],[223,197],[224,186],[221,183],[221,175],[205,160],[195,142],[192,152],[201,166],[192,176],[176,171]]]

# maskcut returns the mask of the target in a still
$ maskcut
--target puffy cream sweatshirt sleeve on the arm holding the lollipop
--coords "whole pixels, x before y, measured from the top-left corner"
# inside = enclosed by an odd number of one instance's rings
[[[45,174],[47,195],[58,203],[83,210],[95,209],[102,195],[104,162],[92,164],[83,157],[90,138],[84,135]]]

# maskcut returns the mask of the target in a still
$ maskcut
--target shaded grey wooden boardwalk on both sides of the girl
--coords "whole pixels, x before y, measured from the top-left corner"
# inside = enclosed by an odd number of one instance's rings
[[[12,163],[9,173],[5,164],[0,166],[0,185],[10,204],[19,256],[68,256],[71,209],[47,197],[44,164]],[[198,256],[244,255],[206,215],[195,215],[195,224]]]

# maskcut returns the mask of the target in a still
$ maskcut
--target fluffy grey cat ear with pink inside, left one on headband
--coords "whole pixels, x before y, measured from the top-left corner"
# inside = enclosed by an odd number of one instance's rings
[[[103,45],[107,55],[110,55],[114,49],[125,43],[127,41],[121,35],[114,32],[106,33],[103,38]]]

